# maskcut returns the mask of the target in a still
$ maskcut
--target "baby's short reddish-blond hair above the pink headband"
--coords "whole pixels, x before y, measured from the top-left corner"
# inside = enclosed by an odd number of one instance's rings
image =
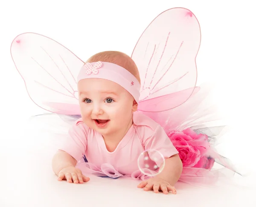
[[[86,62],[111,62],[129,71],[140,82],[140,74],[135,62],[127,54],[119,51],[103,51],[90,57]]]

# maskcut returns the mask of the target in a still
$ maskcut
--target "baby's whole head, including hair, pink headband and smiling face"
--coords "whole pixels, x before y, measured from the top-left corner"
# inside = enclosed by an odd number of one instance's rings
[[[118,51],[97,53],[86,63],[78,82],[84,123],[103,136],[127,131],[139,98],[140,75],[136,64]],[[93,70],[93,66],[98,69]]]

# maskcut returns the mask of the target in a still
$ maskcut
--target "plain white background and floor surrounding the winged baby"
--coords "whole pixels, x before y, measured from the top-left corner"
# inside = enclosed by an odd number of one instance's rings
[[[10,45],[18,34],[35,32],[51,37],[82,60],[105,50],[131,55],[151,20],[173,7],[190,9],[201,26],[198,83],[215,84],[212,99],[232,127],[219,150],[253,176],[256,16],[252,0],[9,0],[0,3],[1,207],[256,204],[251,203],[255,202],[252,189],[233,185],[201,189],[177,184],[178,194],[166,196],[143,192],[136,188],[137,181],[123,179],[92,178],[84,185],[58,182],[51,171],[54,151],[47,129],[37,122],[27,123],[30,116],[44,111],[29,99],[12,62]]]

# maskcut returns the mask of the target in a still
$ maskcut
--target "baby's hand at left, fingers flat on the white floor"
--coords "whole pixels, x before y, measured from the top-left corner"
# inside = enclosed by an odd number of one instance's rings
[[[75,167],[65,167],[58,173],[58,181],[67,180],[67,182],[72,183],[84,183],[90,180],[90,178],[85,177],[81,170]]]

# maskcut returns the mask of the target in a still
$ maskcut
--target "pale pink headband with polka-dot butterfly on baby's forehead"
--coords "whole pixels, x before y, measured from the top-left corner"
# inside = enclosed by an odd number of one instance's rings
[[[77,82],[87,78],[102,78],[121,85],[139,103],[140,82],[125,68],[111,62],[87,62],[80,70]]]

